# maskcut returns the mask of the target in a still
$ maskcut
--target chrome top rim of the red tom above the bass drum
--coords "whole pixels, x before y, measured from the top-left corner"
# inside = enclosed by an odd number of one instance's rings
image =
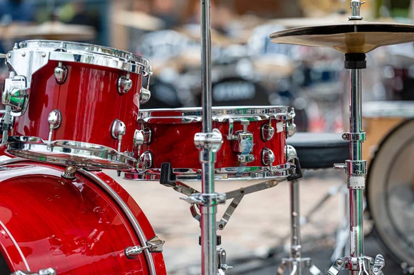
[[[20,59],[13,62],[13,52],[25,52],[23,55],[24,57],[26,55],[26,51],[28,51],[41,52],[41,57],[48,57],[49,60],[53,61],[98,65],[106,68],[124,70],[135,74],[144,74],[144,76],[152,74],[148,59],[137,54],[133,54],[132,52],[117,50],[115,48],[88,43],[41,39],[22,41],[19,45],[21,48],[14,48],[8,54],[7,61],[12,66],[12,63],[16,63],[15,65],[17,66],[21,63]],[[46,52],[49,52],[49,54],[46,54]],[[34,67],[39,65],[40,64],[35,64]],[[42,63],[39,68],[43,67],[43,65],[46,64]]]

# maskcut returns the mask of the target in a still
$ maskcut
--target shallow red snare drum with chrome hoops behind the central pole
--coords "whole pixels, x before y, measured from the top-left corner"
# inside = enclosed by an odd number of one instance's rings
[[[213,128],[223,135],[215,178],[274,179],[286,176],[286,136],[295,133],[294,111],[287,107],[215,107]],[[177,179],[201,179],[194,136],[201,132],[201,108],[140,110],[138,130],[144,135],[138,173],[126,179],[159,179],[162,163],[171,163]]]

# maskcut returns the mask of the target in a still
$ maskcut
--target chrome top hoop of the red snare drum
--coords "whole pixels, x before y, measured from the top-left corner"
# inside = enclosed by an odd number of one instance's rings
[[[171,114],[174,112],[174,114]],[[263,121],[266,119],[287,120],[293,119],[288,112],[288,106],[243,106],[243,107],[213,107],[213,121],[224,122],[229,119],[233,121]],[[168,120],[174,120],[172,124],[177,123],[197,123],[202,121],[201,108],[177,108],[177,109],[148,109],[139,110],[138,121],[147,123],[168,124]],[[177,122],[181,119],[181,122]]]

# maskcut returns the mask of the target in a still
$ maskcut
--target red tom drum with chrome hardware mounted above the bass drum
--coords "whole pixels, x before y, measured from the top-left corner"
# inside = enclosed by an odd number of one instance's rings
[[[142,78],[148,61],[85,43],[24,41],[7,54],[3,103],[17,116],[8,150],[81,167],[126,169],[135,159]]]

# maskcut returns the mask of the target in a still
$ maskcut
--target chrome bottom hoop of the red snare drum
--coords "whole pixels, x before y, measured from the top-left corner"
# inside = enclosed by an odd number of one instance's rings
[[[225,167],[215,169],[216,181],[249,181],[252,179],[286,179],[295,174],[296,166],[285,163],[270,167]],[[177,181],[201,181],[201,169],[177,168],[173,169]],[[161,169],[138,170],[137,172],[126,172],[124,179],[130,181],[159,181]]]

